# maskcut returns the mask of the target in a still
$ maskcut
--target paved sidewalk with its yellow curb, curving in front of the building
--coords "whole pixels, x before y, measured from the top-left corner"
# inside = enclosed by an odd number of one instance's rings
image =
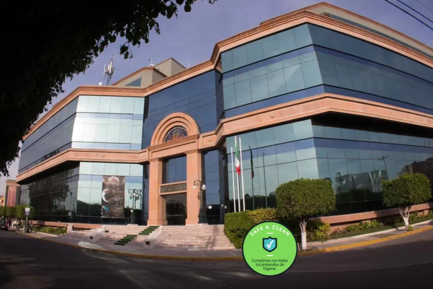
[[[307,251],[299,251],[298,255],[310,255],[316,253],[331,252],[336,250],[347,250],[355,247],[364,247],[371,244],[381,243],[388,240],[394,240],[408,235],[417,234],[423,231],[433,229],[433,221],[426,221],[415,224],[414,231],[406,232],[401,230],[387,230],[371,234],[347,237],[342,239],[328,240],[325,242],[312,242],[307,244]],[[92,250],[96,252],[111,253],[130,257],[141,258],[159,258],[159,259],[178,259],[178,260],[243,260],[242,250],[192,250],[192,249],[155,249],[150,250],[137,245],[118,246],[113,242],[100,241],[97,244],[87,242],[84,238],[77,236],[55,236],[45,233],[22,233],[29,237],[35,237],[42,240],[52,241],[69,245],[72,247]]]

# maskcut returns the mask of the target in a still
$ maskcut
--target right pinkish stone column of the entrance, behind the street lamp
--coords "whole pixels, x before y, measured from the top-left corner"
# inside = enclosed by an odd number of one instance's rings
[[[193,188],[194,181],[201,181],[201,152],[198,149],[186,152],[187,155],[187,219],[186,224],[198,224],[200,211],[200,188]]]

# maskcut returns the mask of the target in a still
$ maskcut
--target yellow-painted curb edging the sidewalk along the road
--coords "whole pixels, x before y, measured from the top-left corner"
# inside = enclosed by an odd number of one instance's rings
[[[376,239],[376,240],[362,241],[362,242],[353,243],[353,244],[341,245],[341,246],[336,246],[336,247],[328,247],[328,248],[322,248],[322,249],[315,249],[315,250],[311,250],[311,251],[300,251],[297,253],[297,256],[312,256],[312,255],[317,255],[317,254],[321,254],[321,253],[329,253],[329,252],[343,251],[343,250],[348,250],[348,249],[353,249],[353,248],[358,248],[358,247],[365,247],[368,245],[373,245],[373,244],[383,243],[383,242],[390,241],[390,240],[396,240],[396,239],[404,238],[404,237],[407,237],[410,235],[422,233],[422,232],[429,231],[432,229],[433,229],[433,226],[428,226],[428,227],[420,228],[420,229],[417,229],[414,231],[408,231],[408,232],[401,233],[401,234],[398,234],[395,236],[384,237],[384,238],[380,238],[380,239]],[[75,244],[68,244],[68,243],[64,243],[64,242],[59,242],[57,240],[48,240],[48,239],[45,239],[45,238],[42,238],[39,236],[32,236],[32,235],[29,235],[26,233],[18,233],[18,234],[22,234],[22,235],[25,235],[28,237],[41,239],[41,240],[45,240],[45,241],[49,241],[49,242],[53,242],[53,243],[57,243],[57,244],[66,245],[69,247],[74,247],[74,248],[81,249],[81,250],[97,252],[97,253],[107,253],[107,254],[124,256],[124,257],[135,257],[135,258],[142,258],[142,259],[160,259],[160,260],[184,260],[184,261],[243,261],[244,260],[242,256],[186,257],[186,256],[164,256],[164,255],[150,255],[150,254],[140,254],[140,253],[127,253],[127,252],[114,251],[114,250],[86,248],[86,247],[81,247],[81,246],[75,245]]]

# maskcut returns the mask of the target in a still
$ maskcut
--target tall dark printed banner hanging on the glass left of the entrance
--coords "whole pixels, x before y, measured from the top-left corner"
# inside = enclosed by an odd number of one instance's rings
[[[125,177],[104,175],[102,179],[102,218],[123,218],[125,208]]]

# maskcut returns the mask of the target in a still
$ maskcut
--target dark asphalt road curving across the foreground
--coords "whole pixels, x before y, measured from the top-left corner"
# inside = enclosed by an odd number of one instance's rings
[[[243,262],[146,260],[0,231],[0,288],[431,288],[433,230],[364,248],[298,257],[280,276]],[[409,287],[410,286],[410,287]]]

